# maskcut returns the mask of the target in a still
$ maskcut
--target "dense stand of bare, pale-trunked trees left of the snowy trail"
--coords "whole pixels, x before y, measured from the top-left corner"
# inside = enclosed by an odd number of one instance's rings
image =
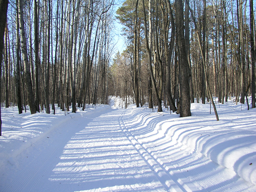
[[[19,106],[19,113],[26,111],[28,100],[31,114],[51,109],[55,113],[54,104],[66,111],[72,104],[72,112],[77,104],[84,109],[92,100],[107,104],[114,2],[17,0],[10,4],[1,65],[6,93],[1,99],[6,107],[9,99]]]

